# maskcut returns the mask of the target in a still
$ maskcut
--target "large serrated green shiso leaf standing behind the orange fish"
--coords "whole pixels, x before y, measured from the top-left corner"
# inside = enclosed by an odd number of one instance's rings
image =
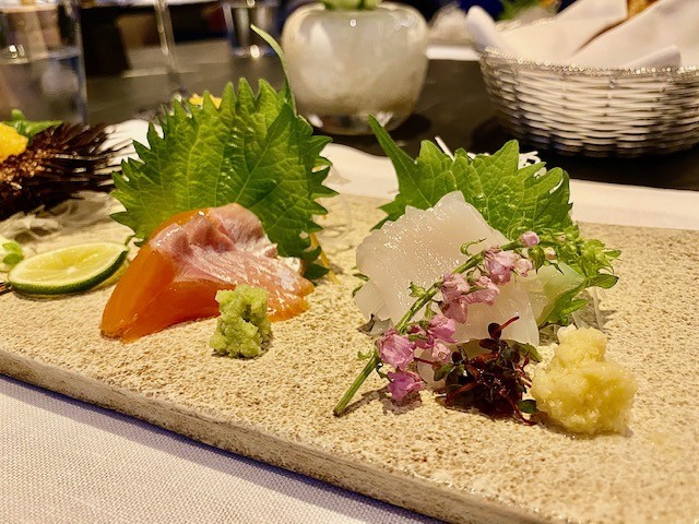
[[[327,214],[317,199],[335,194],[320,156],[330,139],[313,136],[287,93],[264,81],[257,94],[245,79],[237,93],[228,84],[220,108],[208,93],[203,100],[175,102],[163,133],[151,126],[147,145],[134,143],[139,158],[114,176],[126,207],[114,218],[145,240],[177,213],[235,202],[260,218],[282,257],[316,260],[308,234],[321,229],[313,216]]]

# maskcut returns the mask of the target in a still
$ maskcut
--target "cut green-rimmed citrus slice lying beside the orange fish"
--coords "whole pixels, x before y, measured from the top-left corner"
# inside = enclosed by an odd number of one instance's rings
[[[122,243],[94,242],[55,249],[24,259],[8,281],[17,293],[64,295],[92,289],[111,276],[127,258]]]

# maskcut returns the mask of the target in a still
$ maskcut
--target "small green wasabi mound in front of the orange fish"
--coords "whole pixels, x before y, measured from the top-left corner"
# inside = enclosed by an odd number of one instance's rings
[[[221,310],[216,331],[209,345],[220,355],[252,358],[262,354],[263,345],[272,336],[266,318],[266,291],[240,285],[233,290],[216,293]]]

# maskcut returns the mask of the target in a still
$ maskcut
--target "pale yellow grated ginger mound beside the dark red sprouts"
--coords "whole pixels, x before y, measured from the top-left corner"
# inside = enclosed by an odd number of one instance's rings
[[[567,327],[558,340],[553,360],[532,381],[536,407],[569,431],[624,432],[638,386],[627,369],[604,358],[604,333]]]

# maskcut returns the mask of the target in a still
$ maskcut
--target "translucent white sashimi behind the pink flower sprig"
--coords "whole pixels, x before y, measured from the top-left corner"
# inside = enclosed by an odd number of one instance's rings
[[[415,300],[410,296],[411,282],[431,285],[463,263],[467,257],[461,246],[475,241],[478,243],[471,247],[471,252],[508,240],[465,202],[460,191],[446,194],[429,210],[408,207],[398,221],[372,231],[357,248],[357,267],[369,277],[355,296],[357,307],[367,318],[374,314],[395,324]],[[493,306],[471,307],[466,324],[458,327],[458,340],[486,337],[489,323],[503,323],[516,315],[520,320],[510,324],[502,336],[538,344],[528,295],[514,279],[500,288]]]

